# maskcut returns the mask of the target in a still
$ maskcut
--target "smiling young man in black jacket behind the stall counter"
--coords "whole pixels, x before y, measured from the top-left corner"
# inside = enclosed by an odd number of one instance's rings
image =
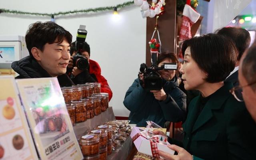
[[[54,22],[36,22],[25,40],[30,55],[12,63],[16,79],[57,77],[62,87],[74,84],[65,74],[72,41],[68,31]]]

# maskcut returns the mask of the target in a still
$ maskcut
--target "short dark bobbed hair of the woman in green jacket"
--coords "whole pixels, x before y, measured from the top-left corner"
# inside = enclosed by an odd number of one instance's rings
[[[230,38],[217,34],[191,38],[182,44],[183,56],[188,47],[199,68],[208,73],[207,82],[224,81],[234,70],[238,51]]]

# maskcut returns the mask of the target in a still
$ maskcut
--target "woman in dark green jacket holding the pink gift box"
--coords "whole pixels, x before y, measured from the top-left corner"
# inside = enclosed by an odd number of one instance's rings
[[[183,143],[170,139],[171,144],[179,145],[168,146],[178,155],[159,151],[160,156],[166,160],[254,159],[251,140],[256,139],[255,123],[244,103],[229,93],[232,83],[223,82],[234,69],[238,55],[232,40],[207,34],[184,41],[182,53],[184,87],[201,94],[188,107],[188,117],[182,125]]]

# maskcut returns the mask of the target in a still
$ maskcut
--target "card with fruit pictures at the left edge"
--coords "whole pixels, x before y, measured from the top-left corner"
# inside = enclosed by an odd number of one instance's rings
[[[0,76],[0,159],[38,160],[13,76]]]

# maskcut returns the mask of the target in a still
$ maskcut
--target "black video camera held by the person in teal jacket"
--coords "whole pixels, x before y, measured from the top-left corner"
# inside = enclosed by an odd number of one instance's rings
[[[148,68],[145,63],[140,65],[140,73],[144,75],[144,88],[150,90],[161,90],[163,87],[162,78],[158,70],[177,70],[177,63],[164,63],[161,67],[157,66],[157,53],[151,54],[152,64]]]

